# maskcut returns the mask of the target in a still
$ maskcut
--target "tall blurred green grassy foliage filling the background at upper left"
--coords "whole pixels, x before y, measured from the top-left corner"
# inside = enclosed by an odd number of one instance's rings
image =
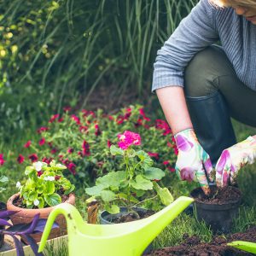
[[[81,93],[84,107],[101,84],[149,93],[156,50],[196,2],[2,1],[0,131],[74,107]]]

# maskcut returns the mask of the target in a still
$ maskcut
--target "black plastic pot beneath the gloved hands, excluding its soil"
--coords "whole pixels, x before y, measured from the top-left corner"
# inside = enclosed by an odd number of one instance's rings
[[[239,189],[237,189],[239,191]],[[198,193],[201,193],[201,188],[194,189],[190,195],[195,199],[194,212],[197,215],[198,220],[204,220],[208,226],[211,226],[213,233],[230,233],[233,219],[238,212],[241,204],[240,196],[236,197],[236,200],[229,201],[227,203],[218,204],[213,202],[202,202],[197,199]]]

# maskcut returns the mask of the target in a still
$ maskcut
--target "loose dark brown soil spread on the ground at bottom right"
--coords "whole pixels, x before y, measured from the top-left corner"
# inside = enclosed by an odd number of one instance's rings
[[[187,235],[184,235],[187,236]],[[226,244],[230,241],[253,241],[256,242],[256,226],[243,233],[236,233],[230,236],[214,236],[209,243],[201,242],[197,236],[190,236],[183,243],[176,247],[166,247],[159,250],[154,250],[151,254],[154,256],[164,255],[189,255],[189,256],[241,256],[253,255],[233,247],[228,247]]]

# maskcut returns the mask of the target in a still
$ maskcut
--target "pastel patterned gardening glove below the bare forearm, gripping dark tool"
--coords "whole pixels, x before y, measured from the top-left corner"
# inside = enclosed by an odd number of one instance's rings
[[[200,183],[206,195],[210,194],[209,181],[212,182],[212,162],[207,152],[201,147],[193,129],[178,132],[174,136],[177,144],[177,162],[175,170],[181,180]]]

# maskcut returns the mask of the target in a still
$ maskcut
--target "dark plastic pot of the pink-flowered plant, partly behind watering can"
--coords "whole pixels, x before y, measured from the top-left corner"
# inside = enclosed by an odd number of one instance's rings
[[[133,208],[136,212],[147,212],[147,209],[144,208]],[[120,207],[120,212],[116,214],[111,214],[107,211],[103,211],[100,214],[100,224],[114,224],[113,220],[116,218],[119,218],[122,215],[125,215],[127,213],[127,208],[126,207]],[[148,254],[152,251],[153,246],[152,242],[148,245],[148,247],[144,250],[143,254]]]

